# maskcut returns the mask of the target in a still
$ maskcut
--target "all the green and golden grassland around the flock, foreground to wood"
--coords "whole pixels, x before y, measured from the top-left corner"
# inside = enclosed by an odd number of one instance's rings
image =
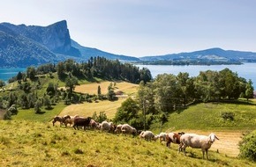
[[[41,81],[43,90],[46,83]],[[97,81],[89,84],[80,81],[75,91],[97,94],[98,85],[102,94],[107,92],[110,82]],[[58,84],[64,86],[63,83]],[[136,96],[138,85],[117,82],[114,91]],[[6,92],[4,92],[6,93]],[[94,130],[74,130],[72,127],[52,126],[55,115],[92,116],[94,112],[105,112],[112,119],[117,108],[126,98],[117,101],[98,100],[92,103],[52,105],[51,110],[19,109],[12,120],[0,120],[0,166],[255,166],[255,163],[237,158],[238,142],[244,133],[256,127],[256,101],[229,103],[201,103],[180,108],[169,114],[163,125],[154,123],[150,130],[205,134],[215,133],[220,140],[209,149],[209,160],[203,160],[200,149],[188,148],[187,156],[177,153],[177,145],[167,149],[164,143],[146,142],[138,136],[107,134]],[[234,113],[234,120],[223,120],[222,113]]]

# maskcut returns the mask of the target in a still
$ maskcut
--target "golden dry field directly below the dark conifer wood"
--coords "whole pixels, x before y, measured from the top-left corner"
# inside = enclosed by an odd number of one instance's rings
[[[81,93],[89,93],[89,94],[98,94],[98,86],[101,86],[101,91],[102,94],[107,94],[108,93],[108,87],[109,84],[113,82],[109,81],[104,81],[101,83],[92,83],[92,84],[82,84],[79,86],[76,86],[75,91],[76,92],[81,92]],[[114,86],[114,85],[113,85]],[[135,92],[137,92],[138,89],[138,84],[131,84],[127,82],[117,82],[115,86],[115,92],[117,91],[123,91],[125,94],[132,95]]]

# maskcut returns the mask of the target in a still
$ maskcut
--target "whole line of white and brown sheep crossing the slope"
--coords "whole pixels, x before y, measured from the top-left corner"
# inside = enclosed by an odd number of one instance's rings
[[[203,158],[205,153],[207,154],[208,149],[211,148],[211,145],[215,142],[215,139],[219,140],[219,138],[215,134],[199,135],[199,134],[185,134],[184,132],[180,133],[160,133],[153,134],[151,131],[141,131],[136,130],[136,128],[130,126],[129,124],[119,124],[114,125],[113,122],[102,121],[102,123],[96,122],[91,117],[79,117],[64,115],[55,116],[52,123],[55,125],[56,121],[60,122],[60,126],[64,124],[65,127],[69,124],[74,129],[79,129],[79,127],[83,127],[84,130],[93,128],[102,130],[105,132],[111,132],[116,134],[139,134],[140,138],[144,138],[146,141],[156,141],[159,139],[160,142],[166,142],[166,146],[169,148],[170,143],[178,144],[178,152],[183,151],[185,155],[186,147],[191,147],[194,149],[201,149],[203,153]],[[208,159],[208,155],[207,155]]]

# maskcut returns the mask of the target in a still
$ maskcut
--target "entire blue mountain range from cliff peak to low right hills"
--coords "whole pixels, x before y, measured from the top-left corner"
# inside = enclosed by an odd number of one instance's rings
[[[52,25],[0,24],[0,68],[27,67],[43,63],[56,63],[66,59],[87,61],[101,56],[120,62],[149,62],[157,64],[215,64],[256,62],[256,53],[209,48],[188,53],[132,57],[111,54],[97,48],[83,47],[72,40],[65,20]]]

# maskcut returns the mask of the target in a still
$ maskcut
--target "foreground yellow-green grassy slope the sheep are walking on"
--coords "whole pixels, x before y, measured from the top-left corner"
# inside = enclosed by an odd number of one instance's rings
[[[200,149],[177,154],[177,145],[167,149],[159,142],[138,136],[106,134],[93,130],[52,127],[27,120],[0,120],[1,166],[253,166],[245,160]]]

